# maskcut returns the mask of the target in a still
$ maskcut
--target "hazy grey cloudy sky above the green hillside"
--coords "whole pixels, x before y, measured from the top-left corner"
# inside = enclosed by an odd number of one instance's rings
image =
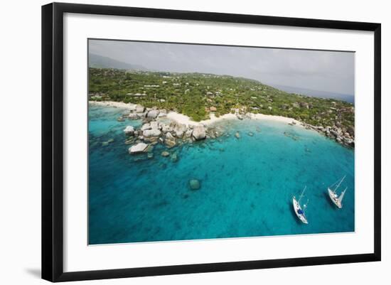
[[[354,95],[355,54],[323,50],[89,41],[90,53],[168,72],[204,72]]]

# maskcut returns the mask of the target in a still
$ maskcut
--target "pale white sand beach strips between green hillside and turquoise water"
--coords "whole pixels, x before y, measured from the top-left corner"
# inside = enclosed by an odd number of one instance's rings
[[[114,101],[88,101],[89,104],[95,104],[98,106],[106,106],[106,107],[114,107],[114,108],[121,108],[121,109],[134,109],[136,107],[136,104],[132,103],[124,103],[124,102],[114,102]],[[283,122],[286,124],[291,124],[292,122],[296,124],[296,126],[303,127],[303,123],[297,121],[296,119],[292,119],[289,117],[282,117],[282,116],[274,116],[274,115],[268,115],[268,114],[252,114],[247,113],[244,115],[248,119],[259,119],[259,120],[269,120],[274,122]],[[205,119],[200,122],[193,121],[190,117],[186,116],[185,114],[181,114],[178,112],[169,111],[167,113],[166,118],[172,119],[173,121],[177,122],[178,124],[186,124],[186,126],[199,126],[204,125],[208,126],[211,124],[214,124],[216,122],[221,122],[223,120],[227,119],[238,119],[236,114],[228,113],[223,114],[220,117],[216,117],[215,114],[210,114],[210,119]]]

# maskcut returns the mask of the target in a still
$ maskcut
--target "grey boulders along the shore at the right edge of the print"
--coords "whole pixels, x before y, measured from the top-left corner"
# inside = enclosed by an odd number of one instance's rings
[[[344,146],[354,147],[354,127],[346,128],[338,122],[334,124],[333,127],[314,126],[305,123],[303,123],[303,126],[306,129],[314,129],[315,131],[318,131],[331,139],[335,139],[336,141],[338,141],[338,143],[343,144]]]

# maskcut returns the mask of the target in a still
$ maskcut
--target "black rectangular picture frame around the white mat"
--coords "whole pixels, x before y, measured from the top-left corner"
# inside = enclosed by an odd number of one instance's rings
[[[274,26],[333,28],[374,33],[374,252],[325,257],[251,260],[95,271],[63,270],[63,15],[99,14],[178,20],[250,23]],[[42,278],[48,281],[112,279],[210,271],[300,267],[320,264],[375,262],[381,258],[381,25],[351,21],[284,18],[200,11],[174,11],[122,6],[53,3],[42,6]]]

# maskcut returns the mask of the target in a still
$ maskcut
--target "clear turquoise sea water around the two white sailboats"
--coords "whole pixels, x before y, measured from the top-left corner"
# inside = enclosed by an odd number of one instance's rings
[[[161,145],[154,158],[131,156],[122,130],[141,122],[117,122],[122,112],[90,105],[90,244],[355,230],[352,149],[285,123],[232,120],[216,124],[224,132],[218,139],[168,150],[176,162],[160,155],[166,150]],[[337,209],[327,186],[344,175],[348,190]],[[188,187],[192,178],[199,190]],[[305,185],[309,225],[291,205]]]

